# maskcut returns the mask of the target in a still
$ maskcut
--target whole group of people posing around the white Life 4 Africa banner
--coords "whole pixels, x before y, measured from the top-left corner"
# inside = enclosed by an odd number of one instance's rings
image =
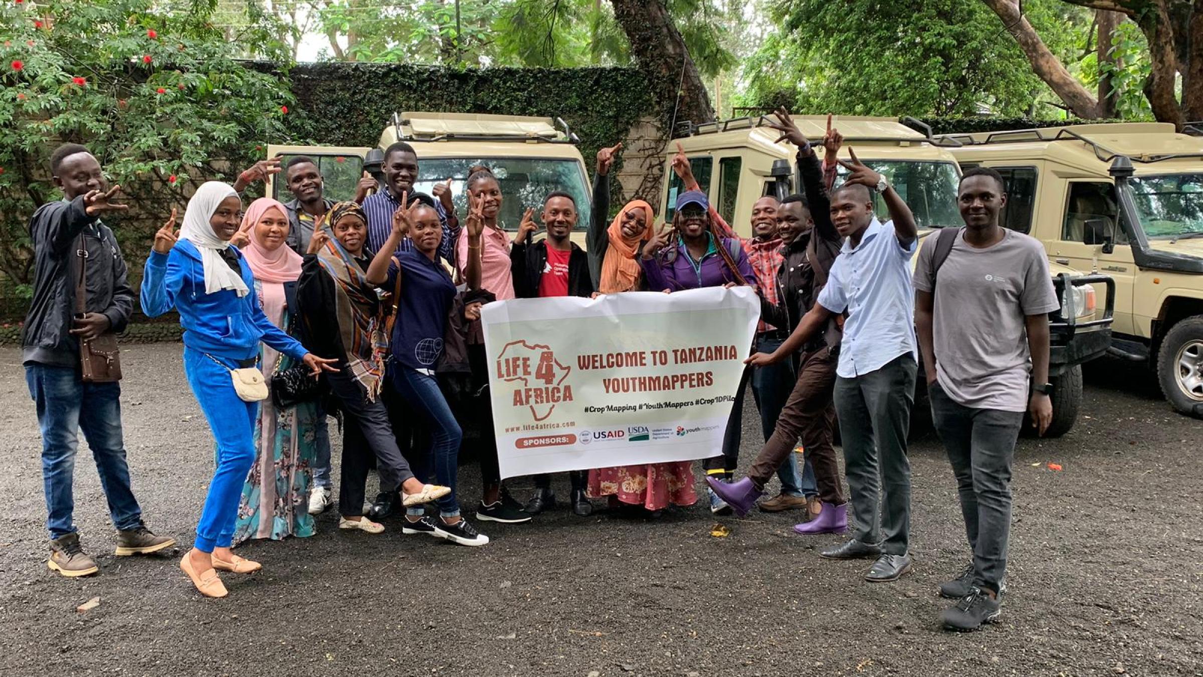
[[[194,547],[180,560],[197,590],[224,596],[219,572],[261,569],[235,554],[242,541],[314,534],[314,516],[334,504],[330,416],[342,422],[342,530],[379,534],[396,516],[407,535],[486,544],[461,514],[466,429],[475,432],[481,470],[478,522],[523,523],[556,505],[550,476],[534,478],[526,504],[502,483],[482,304],[751,285],[761,322],[723,448],[704,461],[710,510],[742,514],[759,500],[765,511],[799,510],[799,534],[847,531],[838,414],[854,529],[822,554],[875,559],[872,582],[906,573],[906,440],[921,353],[973,551],[972,564],[941,587],[958,599],[943,623],[972,629],[997,618],[1015,440],[1025,412],[1038,428],[1050,417],[1047,313],[1057,302],[1043,249],[1000,226],[1001,177],[971,170],[958,198],[965,228],[929,239],[912,278],[919,234],[887,178],[851,149],[851,161],[837,160],[842,139],[830,125],[823,161],[787,112],[772,126],[798,148],[801,190],[757,200],[749,239],[711,206],[680,147],[671,165],[685,190],[659,229],[642,200],[611,218],[609,175],[622,145],[598,153],[588,253],[569,237],[579,220],[570,194],[545,196],[545,237],[534,239],[533,208],[511,237],[498,220],[503,195],[490,167],[472,167],[467,208],[457,210],[450,182],[429,195],[415,190],[419,159],[404,142],[385,151],[383,181],[365,173],[349,201],[327,200],[318,164],[303,155],[285,166],[257,163],[233,186],[202,184],[180,229],[172,211],[155,234],[140,299],[147,316],[179,314],[184,373],[217,442]],[[832,190],[841,164],[847,176]],[[277,172],[295,199],[243,208],[241,192]],[[23,359],[43,438],[48,566],[85,576],[97,566],[71,520],[77,429],[96,459],[117,554],[174,540],[147,529],[130,490],[118,383],[79,369],[81,348],[120,331],[132,312],[125,263],[102,222],[126,207],[83,146],[57,149],[51,173],[64,200],[30,222],[36,283]],[[875,193],[887,222],[873,212]],[[765,442],[735,481],[747,383]],[[380,490],[365,510],[372,467]],[[775,473],[781,493],[763,496]],[[688,461],[599,467],[569,481],[569,507],[580,516],[593,512],[591,499],[650,516],[698,500]]]

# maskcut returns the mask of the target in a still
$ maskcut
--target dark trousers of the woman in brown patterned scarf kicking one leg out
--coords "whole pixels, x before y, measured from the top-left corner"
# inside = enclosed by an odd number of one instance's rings
[[[381,491],[397,491],[414,476],[409,463],[397,447],[397,438],[389,425],[389,410],[377,395],[368,401],[363,387],[346,367],[327,372],[330,390],[338,396],[346,414],[343,422],[343,464],[338,488],[338,511],[344,517],[363,514],[363,491],[371,458],[375,455]]]

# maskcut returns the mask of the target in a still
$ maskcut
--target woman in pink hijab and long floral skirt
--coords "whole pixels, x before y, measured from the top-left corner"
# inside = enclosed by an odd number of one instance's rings
[[[296,284],[301,255],[285,245],[289,217],[284,205],[271,198],[250,204],[242,218],[242,254],[255,273],[255,293],[263,314],[290,336],[297,336]],[[271,382],[289,369],[292,360],[262,347],[259,369]],[[242,487],[242,502],[235,525],[233,543],[248,538],[280,540],[285,536],[313,536],[309,514],[312,466],[316,459],[318,404],[300,402],[277,408],[272,398],[260,402],[255,424],[255,464]]]

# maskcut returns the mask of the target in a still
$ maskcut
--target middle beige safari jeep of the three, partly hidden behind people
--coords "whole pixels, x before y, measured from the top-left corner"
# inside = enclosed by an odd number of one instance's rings
[[[822,158],[824,149],[817,143],[826,131],[826,116],[796,116],[794,122],[816,143],[814,149]],[[765,126],[766,123],[768,118],[760,117],[687,125],[688,136],[669,142],[664,148],[665,181],[660,198],[660,213],[665,220],[672,219],[672,206],[682,190],[681,181],[671,169],[677,142],[689,158],[689,166],[703,190],[742,237],[752,235],[753,202],[764,195],[784,198],[799,192],[793,166],[796,149],[789,143],[776,143],[780,135]],[[893,118],[838,117],[834,124],[845,139],[841,157],[847,158],[847,149],[852,147],[861,161],[887,177],[914,213],[920,239],[938,228],[961,225],[956,207],[960,167],[948,148],[937,145],[930,134],[915,131]],[[842,177],[842,167],[840,172]],[[881,198],[875,200],[876,211],[885,214]],[[1009,228],[1015,228],[1018,223],[1013,217],[1015,211],[1017,207],[1008,205],[1003,214]],[[1027,229],[1020,230],[1027,232]],[[1092,284],[1109,289],[1110,278],[1080,275],[1069,267],[1068,261],[1055,263],[1050,267],[1061,308],[1050,316],[1053,345],[1049,377],[1054,393],[1053,423],[1047,435],[1059,436],[1069,431],[1078,418],[1081,364],[1102,355],[1110,345],[1114,295],[1107,294],[1106,308],[1098,313]]]

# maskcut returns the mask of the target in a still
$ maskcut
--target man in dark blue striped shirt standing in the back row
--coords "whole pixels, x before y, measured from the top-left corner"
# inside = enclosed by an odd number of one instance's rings
[[[392,232],[392,214],[401,206],[402,194],[413,196],[417,181],[417,154],[414,147],[398,141],[384,152],[385,189],[363,200],[363,213],[368,217],[368,248],[379,252]],[[455,243],[460,239],[460,219],[451,206],[451,193],[443,192],[434,201],[434,211],[443,224],[443,241],[439,258],[455,266]],[[407,252],[413,242],[407,237],[398,251]]]

